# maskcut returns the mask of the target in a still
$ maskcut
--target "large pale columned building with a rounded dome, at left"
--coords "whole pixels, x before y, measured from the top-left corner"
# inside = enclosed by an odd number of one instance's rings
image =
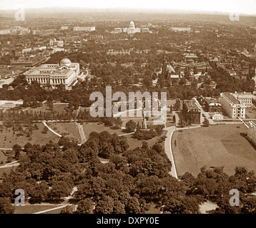
[[[59,64],[43,64],[24,74],[28,83],[37,81],[43,86],[63,84],[67,88],[79,75],[79,63],[72,63],[68,58],[63,58]]]

